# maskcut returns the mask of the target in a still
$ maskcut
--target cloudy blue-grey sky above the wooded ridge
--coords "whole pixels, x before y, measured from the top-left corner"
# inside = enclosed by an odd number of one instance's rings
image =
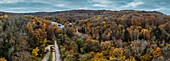
[[[170,15],[170,0],[0,0],[0,11],[53,12],[74,9],[146,10]]]

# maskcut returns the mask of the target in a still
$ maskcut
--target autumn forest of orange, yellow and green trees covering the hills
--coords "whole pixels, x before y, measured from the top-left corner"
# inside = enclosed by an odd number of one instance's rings
[[[170,16],[161,12],[0,12],[0,61],[41,61],[53,37],[62,61],[170,61]]]

